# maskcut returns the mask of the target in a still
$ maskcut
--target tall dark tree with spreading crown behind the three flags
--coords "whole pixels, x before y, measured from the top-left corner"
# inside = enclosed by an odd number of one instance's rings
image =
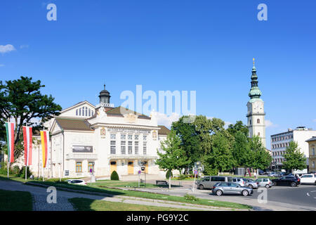
[[[9,118],[15,122],[15,158],[19,158],[23,150],[22,126],[28,124],[34,131],[39,130],[62,109],[51,95],[41,94],[42,87],[41,81],[33,82],[32,77],[20,77],[6,84],[0,81],[0,124]],[[34,120],[40,120],[40,124]]]

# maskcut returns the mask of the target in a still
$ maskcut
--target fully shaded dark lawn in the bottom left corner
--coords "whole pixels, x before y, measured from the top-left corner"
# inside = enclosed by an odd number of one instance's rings
[[[33,198],[27,191],[0,189],[0,211],[32,211]]]

